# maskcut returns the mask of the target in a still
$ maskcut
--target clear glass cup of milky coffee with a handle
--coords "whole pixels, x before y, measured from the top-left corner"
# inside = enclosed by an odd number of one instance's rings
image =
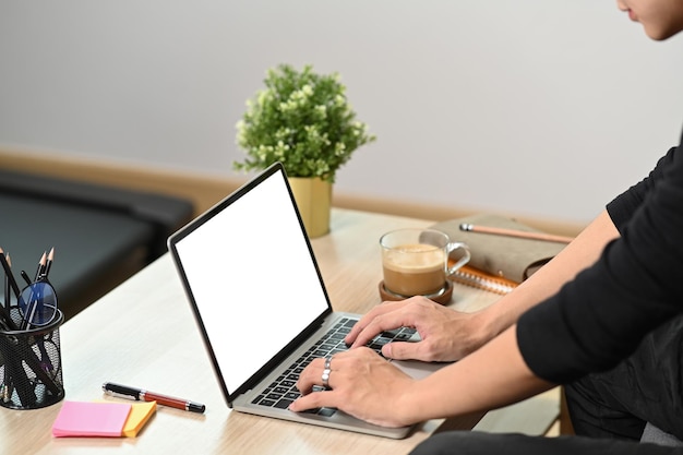
[[[434,229],[393,230],[380,238],[380,246],[384,291],[399,299],[443,295],[448,276],[470,260],[465,243],[451,241],[446,234]],[[448,267],[453,252],[457,260]]]

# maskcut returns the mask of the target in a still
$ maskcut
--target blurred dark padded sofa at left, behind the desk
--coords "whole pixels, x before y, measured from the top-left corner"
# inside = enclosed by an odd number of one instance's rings
[[[55,248],[49,279],[67,319],[165,253],[192,215],[178,197],[0,170],[0,247],[20,287],[20,271],[33,278]]]

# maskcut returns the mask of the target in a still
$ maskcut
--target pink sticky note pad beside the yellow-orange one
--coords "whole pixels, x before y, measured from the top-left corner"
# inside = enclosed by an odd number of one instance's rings
[[[64,402],[52,424],[52,435],[119,438],[131,405],[124,403]]]

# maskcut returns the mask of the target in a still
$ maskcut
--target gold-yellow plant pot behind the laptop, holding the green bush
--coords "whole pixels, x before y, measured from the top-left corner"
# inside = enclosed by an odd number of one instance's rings
[[[288,179],[309,238],[329,232],[332,183],[319,177],[289,177]]]

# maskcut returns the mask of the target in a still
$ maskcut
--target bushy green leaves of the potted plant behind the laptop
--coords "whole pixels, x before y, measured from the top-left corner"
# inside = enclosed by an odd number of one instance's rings
[[[265,88],[247,100],[237,122],[237,144],[247,158],[236,170],[265,169],[280,161],[289,177],[320,177],[334,182],[337,169],[361,145],[375,141],[356,120],[339,75],[321,75],[305,65],[297,71],[269,69]]]

